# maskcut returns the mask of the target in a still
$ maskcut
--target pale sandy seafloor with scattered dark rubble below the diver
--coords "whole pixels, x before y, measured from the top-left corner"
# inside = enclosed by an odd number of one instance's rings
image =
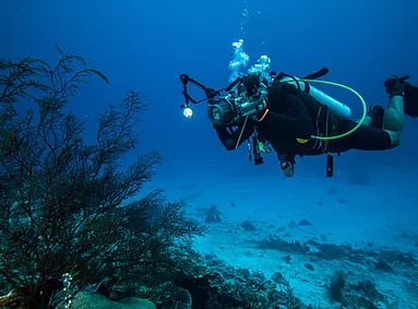
[[[267,277],[280,273],[314,308],[339,308],[329,290],[341,271],[351,293],[370,284],[375,308],[418,308],[418,223],[410,215],[418,205],[418,177],[411,169],[285,179],[271,167],[249,167],[222,181],[215,173],[212,178],[211,171],[191,171],[162,183],[168,198],[184,200],[202,223],[212,205],[219,211],[220,223],[208,224],[195,249]]]

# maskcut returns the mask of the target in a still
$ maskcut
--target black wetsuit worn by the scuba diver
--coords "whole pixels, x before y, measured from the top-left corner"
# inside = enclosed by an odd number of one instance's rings
[[[348,150],[383,151],[392,147],[386,131],[367,126],[360,126],[354,133],[337,140],[310,139],[311,135],[342,134],[353,129],[357,122],[333,115],[327,106],[291,84],[274,82],[267,98],[270,111],[262,121],[249,119],[243,130],[243,124],[234,128],[215,127],[227,150],[235,150],[255,129],[259,139],[268,141],[277,154],[289,157],[342,153]],[[301,140],[308,141],[303,143]]]

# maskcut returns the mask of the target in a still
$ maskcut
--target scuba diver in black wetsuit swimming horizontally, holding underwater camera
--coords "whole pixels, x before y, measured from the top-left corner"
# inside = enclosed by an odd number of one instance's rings
[[[300,80],[285,73],[272,72],[270,80],[260,72],[249,73],[223,90],[228,94],[220,99],[217,97],[220,91],[206,88],[182,74],[187,102],[182,107],[190,106],[190,100],[199,103],[188,95],[186,84],[192,82],[202,87],[208,102],[210,119],[225,148],[236,150],[248,140],[250,150],[252,141],[258,165],[263,163],[261,152],[272,146],[287,177],[295,174],[296,156],[329,154],[326,176],[332,177],[332,153],[384,151],[399,145],[404,114],[418,117],[418,87],[406,82],[409,76],[389,78],[384,82],[390,97],[387,108],[375,105],[357,122],[344,112],[338,115],[310,94],[313,87],[306,80],[314,80],[326,72]]]

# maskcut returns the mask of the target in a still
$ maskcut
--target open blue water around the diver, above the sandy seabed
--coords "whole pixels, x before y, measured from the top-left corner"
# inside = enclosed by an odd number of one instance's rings
[[[401,214],[396,224],[405,219],[408,228],[418,230],[418,119],[406,118],[403,143],[396,150],[353,151],[336,158],[336,178],[326,180],[324,189],[323,156],[299,161],[295,178],[285,179],[274,155],[265,158],[264,166],[254,167],[244,147],[226,152],[204,105],[195,107],[192,119],[182,117],[179,108],[183,103],[179,74],[225,87],[231,44],[239,38],[252,61],[265,54],[272,69],[296,75],[327,67],[327,80],[356,88],[369,105],[385,105],[387,76],[410,74],[418,84],[417,12],[416,0],[1,0],[0,58],[29,56],[53,62],[59,45],[104,72],[110,85],[92,79],[70,106],[87,120],[87,140],[108,104],[130,88],[140,91],[148,108],[141,123],[141,146],[127,163],[136,154],[159,151],[164,162],[152,186],[167,187],[170,198],[181,191],[179,183],[194,188],[196,179],[202,181],[200,194],[211,197],[212,191],[228,192],[228,179],[244,178],[243,186],[251,189],[263,181],[270,186],[274,178],[288,190],[309,188],[311,201],[321,200],[330,188],[356,192],[355,186],[360,186],[365,195],[360,209],[370,206],[369,216],[379,212],[390,223],[392,213]],[[360,115],[355,97],[330,91],[351,107],[355,118]],[[237,197],[241,191],[234,188],[230,195]],[[280,202],[286,192],[277,188],[268,199]],[[381,192],[393,199],[386,203],[378,199],[375,204]],[[397,195],[403,202],[395,206]],[[306,204],[307,210],[311,206]]]

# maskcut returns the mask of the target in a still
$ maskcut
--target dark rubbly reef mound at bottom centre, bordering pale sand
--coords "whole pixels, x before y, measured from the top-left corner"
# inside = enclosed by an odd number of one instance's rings
[[[176,281],[190,292],[193,308],[303,308],[284,277],[267,280],[260,272],[235,269],[210,255],[195,262],[198,269]]]

